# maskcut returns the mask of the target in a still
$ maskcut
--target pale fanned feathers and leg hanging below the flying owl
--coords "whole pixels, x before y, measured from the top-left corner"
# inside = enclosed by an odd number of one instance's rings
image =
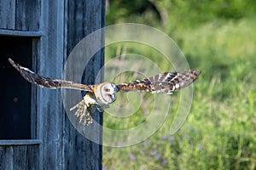
[[[80,117],[79,122],[83,123],[84,125],[88,126],[93,122],[92,118],[92,110],[94,105],[99,105],[95,99],[90,97],[90,94],[87,93],[84,98],[77,104],[74,105],[70,111],[73,111],[77,108],[75,112],[75,116]]]

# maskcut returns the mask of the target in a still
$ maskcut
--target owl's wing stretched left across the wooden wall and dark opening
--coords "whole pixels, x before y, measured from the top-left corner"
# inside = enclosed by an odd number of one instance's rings
[[[26,79],[27,82],[31,82],[36,84],[40,87],[44,88],[71,88],[71,89],[78,89],[84,90],[88,92],[93,91],[93,85],[84,85],[76,82],[71,81],[64,81],[59,79],[51,79],[49,77],[42,77],[33,71],[23,67],[19,64],[15,64],[15,62],[9,58],[9,62],[11,65],[15,67],[17,71],[20,72],[21,76]]]

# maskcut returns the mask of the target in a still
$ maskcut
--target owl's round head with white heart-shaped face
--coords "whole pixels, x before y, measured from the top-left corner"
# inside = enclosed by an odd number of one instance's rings
[[[99,104],[109,105],[116,99],[117,86],[113,82],[103,82],[96,86],[96,99]]]

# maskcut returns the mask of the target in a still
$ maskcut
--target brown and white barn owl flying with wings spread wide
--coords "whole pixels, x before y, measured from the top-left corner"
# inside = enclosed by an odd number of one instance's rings
[[[149,77],[143,80],[137,80],[130,83],[115,84],[113,82],[102,82],[95,85],[85,85],[71,81],[51,79],[42,77],[33,71],[15,64],[12,59],[9,59],[11,65],[20,72],[21,76],[26,81],[34,83],[44,88],[71,88],[86,91],[87,94],[79,102],[74,105],[70,111],[77,109],[75,115],[79,117],[79,122],[84,125],[90,125],[93,122],[92,112],[96,108],[98,111],[108,108],[116,99],[117,92],[149,92],[151,94],[163,93],[172,94],[173,92],[189,86],[195,82],[201,71],[189,70],[182,72],[165,72],[154,77]]]

